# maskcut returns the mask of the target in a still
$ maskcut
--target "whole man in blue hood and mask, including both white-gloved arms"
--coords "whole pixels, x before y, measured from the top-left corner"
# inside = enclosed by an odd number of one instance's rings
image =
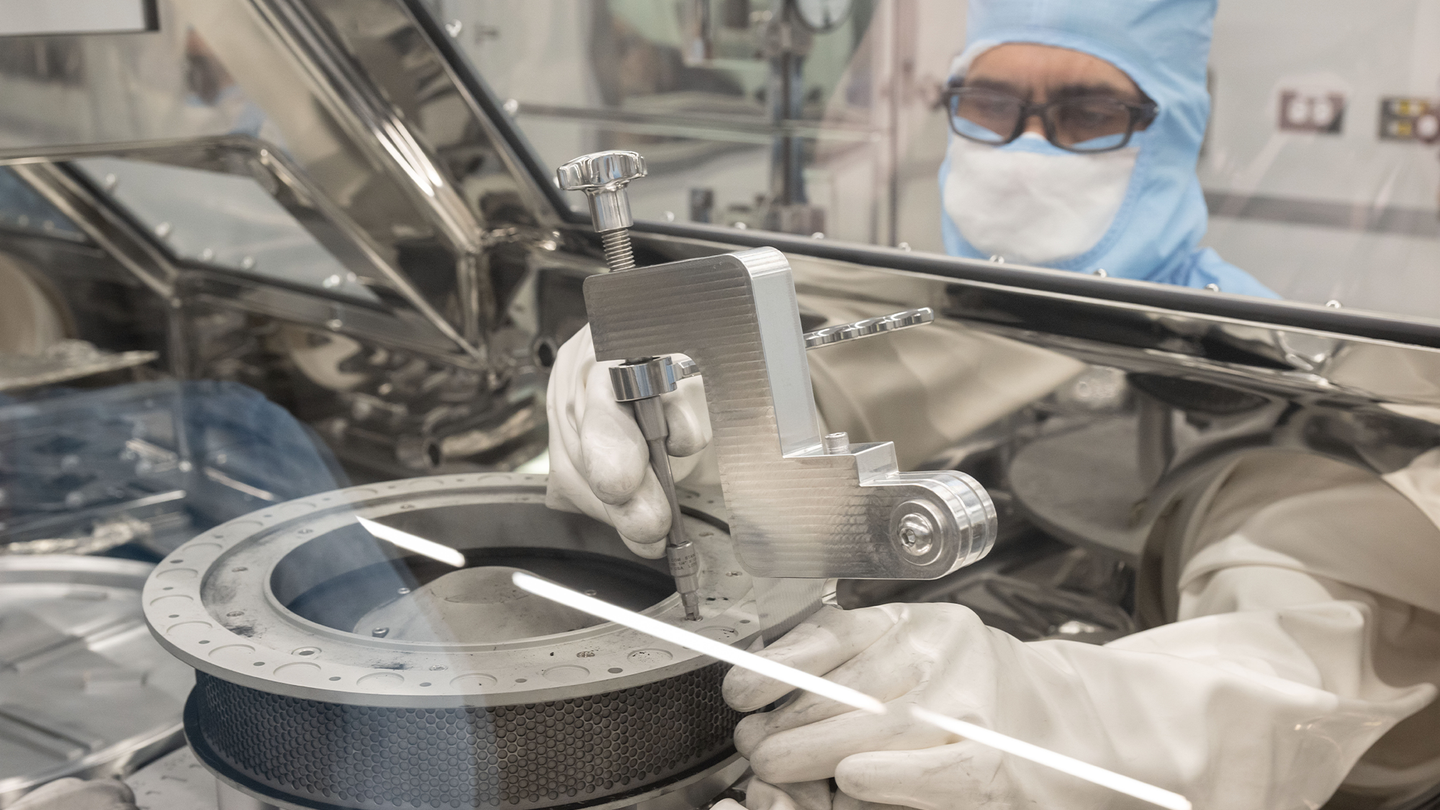
[[[1214,7],[972,0],[958,88],[992,95],[972,95],[989,107],[965,108],[965,121],[952,115],[959,131],[942,170],[950,249],[1267,294],[1197,251],[1204,203],[1194,163]],[[1007,94],[1045,105],[1112,91],[1139,111],[1119,146],[1093,143],[1115,138],[1113,127],[1087,131],[1104,110],[1083,105],[1070,105],[1081,112],[1074,120],[1050,107],[1020,121],[1032,133],[1038,124],[1038,137],[1007,131],[1015,123]],[[952,89],[952,102],[962,95]],[[1005,192],[1021,197],[1017,208]],[[550,409],[549,503],[609,519],[631,548],[655,556],[668,529],[664,502],[588,333],[562,349]],[[667,415],[671,454],[707,444],[696,386],[668,395]],[[1440,450],[1384,479],[1297,451],[1257,451],[1192,506],[1168,562],[1169,624],[1106,646],[1022,643],[953,604],[827,607],[762,654],[900,709],[923,706],[1181,793],[1200,809],[1400,807],[1440,783]],[[742,669],[724,685],[742,711],[789,692]],[[906,715],[798,695],[747,716],[736,729],[756,774],[746,804],[1143,806]]]

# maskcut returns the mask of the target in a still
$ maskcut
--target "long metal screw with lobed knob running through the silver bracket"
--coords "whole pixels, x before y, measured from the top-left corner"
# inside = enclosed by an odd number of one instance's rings
[[[635,221],[631,218],[625,186],[645,176],[645,159],[634,151],[598,151],[560,166],[554,176],[562,189],[585,192],[589,199],[590,219],[600,235],[605,264],[611,272],[634,268],[635,252],[631,249],[628,228]],[[624,365],[611,369],[611,386],[615,388],[616,401],[629,402],[635,408],[635,422],[649,447],[649,466],[670,503],[665,558],[675,579],[675,592],[685,607],[685,618],[696,621],[700,618],[700,558],[685,536],[675,477],[665,451],[670,425],[665,424],[665,408],[660,401],[662,393],[675,391],[675,383],[683,376],[690,375],[677,369],[670,357],[631,356]]]

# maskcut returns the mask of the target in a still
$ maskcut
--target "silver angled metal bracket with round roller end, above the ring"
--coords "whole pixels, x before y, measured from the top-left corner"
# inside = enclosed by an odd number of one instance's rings
[[[624,372],[618,392],[672,388],[696,372],[664,355],[694,360],[730,535],[750,574],[933,579],[989,552],[995,506],[969,476],[901,473],[888,441],[827,451],[795,284],[779,251],[593,275],[585,303],[598,359],[657,357],[652,369]],[[910,323],[870,331],[903,326]]]

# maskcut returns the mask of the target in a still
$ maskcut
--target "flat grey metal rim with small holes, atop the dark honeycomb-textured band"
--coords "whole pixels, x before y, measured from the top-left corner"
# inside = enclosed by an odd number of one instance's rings
[[[274,695],[366,706],[540,703],[711,664],[609,623],[511,641],[416,641],[361,636],[287,607],[321,585],[320,578],[402,565],[406,553],[373,539],[357,516],[426,536],[428,515],[482,506],[487,517],[461,536],[428,536],[462,552],[497,539],[516,548],[543,545],[543,530],[533,525],[537,516],[613,535],[588,517],[546,510],[544,481],[523,474],[438,476],[336,490],[246,515],[160,562],[144,588],[145,618],[166,649],[202,673]],[[700,553],[701,618],[685,621],[674,594],[642,613],[711,638],[747,643],[759,634],[759,621],[750,578],[724,529],[723,504],[684,490],[680,496],[687,535]]]

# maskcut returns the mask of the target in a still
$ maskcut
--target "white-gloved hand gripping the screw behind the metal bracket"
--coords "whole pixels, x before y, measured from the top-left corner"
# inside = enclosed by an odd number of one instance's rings
[[[670,504],[649,467],[649,448],[631,405],[615,401],[609,366],[598,363],[590,327],[564,342],[550,370],[550,481],[546,506],[582,512],[615,526],[631,551],[665,556]],[[665,451],[680,481],[710,444],[710,411],[700,378],[680,380],[664,395],[670,438]]]

